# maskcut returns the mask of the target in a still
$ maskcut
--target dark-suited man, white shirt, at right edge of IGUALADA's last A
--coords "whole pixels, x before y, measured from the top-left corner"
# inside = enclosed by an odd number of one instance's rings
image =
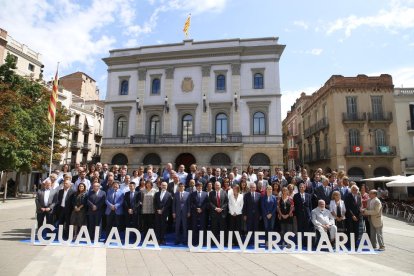
[[[155,235],[158,243],[165,245],[165,232],[167,230],[167,219],[170,214],[172,195],[167,191],[167,182],[161,183],[161,191],[154,196],[155,209]],[[172,220],[172,218],[170,218]]]

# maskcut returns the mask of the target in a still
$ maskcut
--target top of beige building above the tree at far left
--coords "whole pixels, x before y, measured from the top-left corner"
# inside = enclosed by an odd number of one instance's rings
[[[0,65],[4,63],[7,54],[16,57],[15,72],[18,75],[35,80],[42,78],[44,66],[40,61],[41,55],[16,41],[6,30],[0,28]]]

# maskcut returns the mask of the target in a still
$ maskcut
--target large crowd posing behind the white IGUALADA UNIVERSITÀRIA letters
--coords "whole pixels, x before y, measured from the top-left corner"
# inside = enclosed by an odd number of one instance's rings
[[[365,231],[374,248],[378,244],[384,250],[377,195],[349,181],[343,171],[317,169],[310,177],[306,169],[276,168],[272,175],[251,166],[239,172],[192,164],[187,172],[184,165],[174,170],[168,163],[162,169],[148,165],[128,171],[126,165],[109,169],[97,163],[76,164],[72,170],[64,165],[50,174],[37,192],[36,208],[38,226],[63,225],[66,238],[69,225],[75,238],[87,225],[92,239],[96,226],[104,229],[97,235],[101,238],[112,227],[121,233],[132,227],[144,235],[154,229],[160,244],[166,244],[168,232],[175,233],[175,244],[186,244],[188,230],[194,244],[200,230],[217,238],[220,231],[276,231],[282,237],[316,231],[333,243],[337,232],[353,233],[357,243]]]

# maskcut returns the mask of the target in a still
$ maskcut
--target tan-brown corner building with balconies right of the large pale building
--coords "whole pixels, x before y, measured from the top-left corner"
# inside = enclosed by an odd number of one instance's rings
[[[344,170],[354,181],[400,174],[393,94],[390,75],[334,75],[303,106],[298,99],[300,163]]]

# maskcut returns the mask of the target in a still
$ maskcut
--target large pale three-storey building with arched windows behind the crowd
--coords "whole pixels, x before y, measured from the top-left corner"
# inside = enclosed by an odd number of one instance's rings
[[[102,161],[283,165],[277,38],[110,51]]]

